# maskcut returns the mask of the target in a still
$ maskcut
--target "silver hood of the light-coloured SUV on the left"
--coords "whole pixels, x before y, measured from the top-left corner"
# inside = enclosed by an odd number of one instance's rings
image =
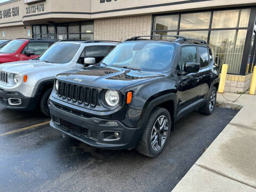
[[[36,70],[41,70],[42,68],[52,68],[58,65],[60,64],[47,63],[47,62],[38,61],[38,60],[27,60],[27,61],[4,63],[0,65],[0,70],[9,72],[9,73],[19,74],[25,71],[36,71]]]

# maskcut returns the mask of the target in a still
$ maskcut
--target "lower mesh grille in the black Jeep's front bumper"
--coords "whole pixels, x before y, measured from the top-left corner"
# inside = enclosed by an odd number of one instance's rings
[[[86,138],[90,138],[90,139],[93,139],[95,141],[98,140],[98,132],[96,131],[91,131],[89,129],[86,129],[82,126],[78,126],[78,125],[75,125],[73,123],[69,123],[63,119],[59,119],[59,123],[60,123],[60,126],[76,133],[76,134],[79,134],[83,137],[86,137]]]

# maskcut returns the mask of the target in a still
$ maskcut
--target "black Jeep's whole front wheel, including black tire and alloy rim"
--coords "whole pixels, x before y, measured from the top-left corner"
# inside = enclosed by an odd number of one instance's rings
[[[145,130],[136,149],[148,157],[156,157],[162,153],[171,131],[169,111],[157,107],[148,118]]]

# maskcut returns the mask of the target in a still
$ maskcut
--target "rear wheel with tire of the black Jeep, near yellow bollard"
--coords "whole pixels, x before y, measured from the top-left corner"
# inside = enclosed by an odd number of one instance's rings
[[[209,101],[205,103],[203,107],[199,108],[199,111],[205,115],[211,115],[216,106],[216,99],[217,99],[217,89],[216,87],[212,87]]]

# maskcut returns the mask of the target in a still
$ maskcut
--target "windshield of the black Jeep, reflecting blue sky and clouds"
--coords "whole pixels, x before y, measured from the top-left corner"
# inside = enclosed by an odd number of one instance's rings
[[[174,46],[158,42],[129,42],[116,46],[102,61],[109,67],[162,71],[169,67]]]

